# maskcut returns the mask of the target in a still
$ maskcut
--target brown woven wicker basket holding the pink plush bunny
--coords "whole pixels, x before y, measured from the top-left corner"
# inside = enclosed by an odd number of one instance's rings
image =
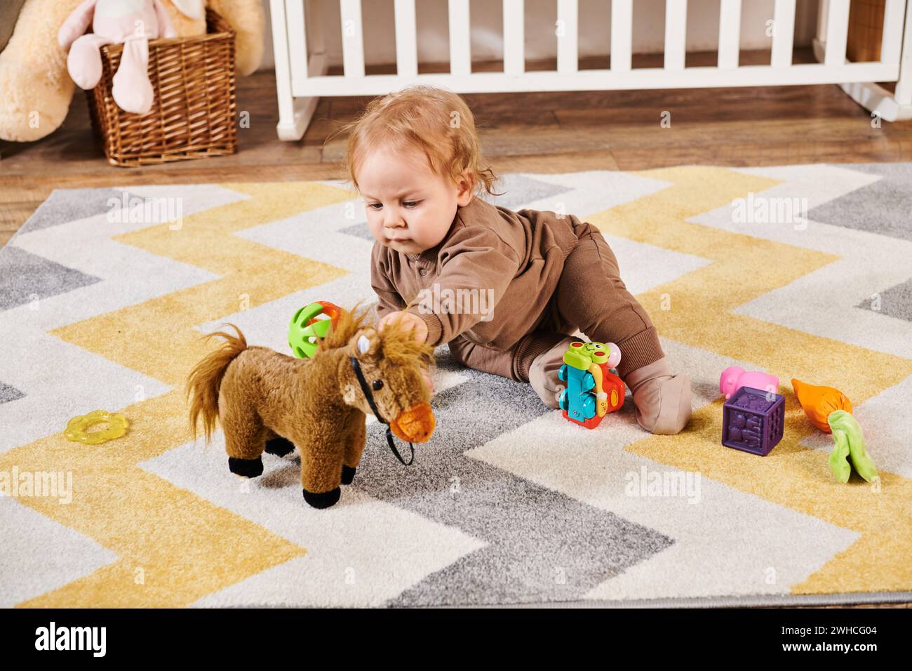
[[[101,79],[86,94],[109,163],[137,167],[235,152],[234,33],[211,10],[206,24],[207,35],[150,40],[155,100],[147,114],[126,112],[114,102],[111,80],[123,47],[101,48]]]

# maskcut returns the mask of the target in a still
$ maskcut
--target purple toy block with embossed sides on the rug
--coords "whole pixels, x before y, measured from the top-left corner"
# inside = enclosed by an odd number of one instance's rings
[[[782,440],[785,397],[741,387],[722,406],[722,445],[766,456]]]

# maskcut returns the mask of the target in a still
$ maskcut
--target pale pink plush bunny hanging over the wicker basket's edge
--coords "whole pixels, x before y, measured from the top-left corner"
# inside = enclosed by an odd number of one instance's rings
[[[174,5],[191,18],[201,18],[202,2]],[[88,25],[92,33],[85,34]],[[67,69],[80,89],[93,89],[101,79],[100,48],[123,43],[120,67],[111,94],[120,109],[145,114],[155,92],[149,81],[149,40],[177,37],[161,0],[86,0],[67,17],[57,41],[69,49]]]

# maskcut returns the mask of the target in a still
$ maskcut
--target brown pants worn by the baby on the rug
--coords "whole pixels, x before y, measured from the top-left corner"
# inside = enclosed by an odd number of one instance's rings
[[[493,350],[457,336],[450,341],[456,361],[482,372],[529,382],[545,404],[554,399],[557,369],[569,336],[582,331],[590,341],[614,342],[621,351],[621,379],[665,356],[652,320],[620,278],[617,258],[591,224],[575,227],[579,244],[566,257],[544,318],[509,350]]]

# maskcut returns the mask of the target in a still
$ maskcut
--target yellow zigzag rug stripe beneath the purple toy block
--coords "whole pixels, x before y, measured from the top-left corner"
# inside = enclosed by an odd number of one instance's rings
[[[827,453],[798,445],[816,429],[784,381],[797,377],[832,384],[860,405],[912,374],[912,361],[733,313],[747,301],[838,258],[686,221],[778,182],[713,167],[636,174],[670,185],[588,221],[614,236],[712,260],[637,299],[662,336],[753,362],[779,375],[787,414],[782,442],[765,457],[721,446],[721,400],[700,408],[681,434],[652,435],[627,450],[658,463],[699,471],[730,487],[861,534],[851,548],[834,556],[806,581],[793,585],[794,593],[907,590],[912,584],[912,563],[908,561],[912,556],[912,481],[882,472],[879,494],[860,480],[837,483],[827,466]],[[663,310],[663,303],[669,300],[670,309]],[[707,372],[707,377],[713,379],[720,372]],[[871,447],[876,459],[876,446]]]

